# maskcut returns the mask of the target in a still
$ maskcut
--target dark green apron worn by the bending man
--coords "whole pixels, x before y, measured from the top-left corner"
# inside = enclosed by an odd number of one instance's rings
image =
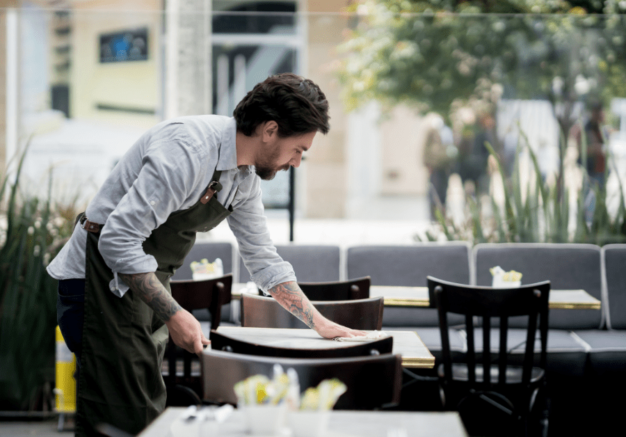
[[[145,253],[156,258],[155,273],[168,292],[170,276],[182,266],[195,233],[215,228],[232,212],[232,207],[226,209],[217,200],[220,173],[215,171],[207,192],[195,205],[170,214],[143,243]],[[97,248],[99,228],[102,225],[87,232],[76,435],[97,435],[99,423],[135,435],[165,408],[161,363],[168,328],[133,290],[122,298],[111,292],[113,272]]]

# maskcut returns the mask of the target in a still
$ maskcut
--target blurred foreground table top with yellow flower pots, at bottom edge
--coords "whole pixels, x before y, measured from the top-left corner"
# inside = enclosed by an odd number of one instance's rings
[[[223,422],[184,420],[186,408],[166,408],[137,437],[254,437],[246,431],[243,412],[235,410]],[[467,437],[456,411],[329,411],[324,437]],[[275,436],[293,437],[285,427]]]

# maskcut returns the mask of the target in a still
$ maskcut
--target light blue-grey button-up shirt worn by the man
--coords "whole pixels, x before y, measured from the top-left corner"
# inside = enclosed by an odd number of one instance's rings
[[[295,281],[289,262],[276,253],[253,166],[237,167],[236,123],[224,116],[174,118],[149,129],[113,168],[86,210],[95,223],[106,223],[98,249],[115,279],[111,291],[128,287],[118,273],[157,270],[157,260],[143,251],[143,241],[172,212],[187,209],[206,191],[214,170],[222,170],[218,202],[228,207],[230,226],[252,280],[266,291]],[[47,271],[56,279],[85,277],[87,231],[74,228],[70,241]]]

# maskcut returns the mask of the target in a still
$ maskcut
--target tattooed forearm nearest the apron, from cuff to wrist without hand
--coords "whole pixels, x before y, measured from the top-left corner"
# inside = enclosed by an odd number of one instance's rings
[[[175,312],[182,309],[163,284],[157,279],[154,273],[136,273],[128,275],[118,273],[118,276],[131,289],[139,294],[141,300],[154,310],[157,317],[163,321],[168,321]]]

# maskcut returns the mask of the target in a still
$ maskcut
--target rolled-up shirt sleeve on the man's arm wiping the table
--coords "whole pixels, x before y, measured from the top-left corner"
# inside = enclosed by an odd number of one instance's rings
[[[227,221],[252,281],[266,292],[275,285],[295,281],[296,273],[291,264],[278,255],[269,235],[259,178],[255,177],[252,184],[246,202],[234,209]]]

